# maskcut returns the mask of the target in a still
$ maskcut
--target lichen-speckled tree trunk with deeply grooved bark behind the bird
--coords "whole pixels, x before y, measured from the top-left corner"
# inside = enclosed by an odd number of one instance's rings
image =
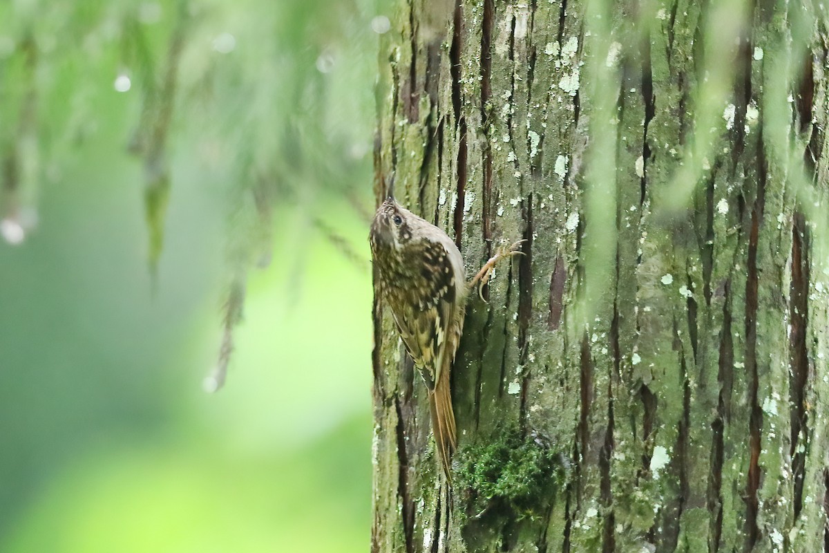
[[[376,300],[372,551],[829,551],[827,13],[399,0],[376,194],[454,236],[453,488]]]

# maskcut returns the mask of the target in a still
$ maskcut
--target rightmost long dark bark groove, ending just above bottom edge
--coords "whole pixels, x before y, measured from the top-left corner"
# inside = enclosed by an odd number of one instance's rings
[[[809,428],[806,411],[806,386],[809,375],[807,320],[809,296],[809,259],[806,220],[794,214],[792,226],[792,281],[789,287],[789,413],[791,417],[792,478],[794,478],[794,517],[803,507],[803,476],[806,466]]]

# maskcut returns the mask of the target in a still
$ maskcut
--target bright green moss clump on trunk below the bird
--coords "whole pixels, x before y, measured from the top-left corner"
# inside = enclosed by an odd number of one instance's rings
[[[459,458],[455,490],[466,500],[467,517],[479,521],[542,515],[563,474],[557,452],[517,428],[496,430],[486,443],[463,449]]]

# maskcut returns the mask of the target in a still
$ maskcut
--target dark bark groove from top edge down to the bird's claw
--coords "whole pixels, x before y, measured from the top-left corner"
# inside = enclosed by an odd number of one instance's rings
[[[492,96],[492,24],[493,0],[483,2],[483,22],[481,26],[481,128],[486,134],[489,126],[490,98]],[[489,140],[482,141],[483,146],[483,240],[487,257],[492,257],[492,146]],[[484,289],[484,299],[489,298],[488,287]]]

